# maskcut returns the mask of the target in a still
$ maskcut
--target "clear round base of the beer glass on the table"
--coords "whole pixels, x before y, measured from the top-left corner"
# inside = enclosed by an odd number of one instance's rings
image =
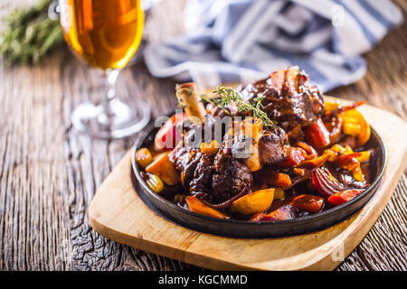
[[[72,125],[80,133],[97,138],[134,135],[147,126],[151,113],[144,101],[137,101],[136,107],[129,107],[118,98],[113,98],[105,106],[84,103],[73,111]]]

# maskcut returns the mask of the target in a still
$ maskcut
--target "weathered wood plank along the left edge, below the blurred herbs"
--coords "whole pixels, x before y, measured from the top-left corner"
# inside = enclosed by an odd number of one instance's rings
[[[0,268],[67,269],[62,88],[57,57],[47,70],[2,70],[0,97]]]

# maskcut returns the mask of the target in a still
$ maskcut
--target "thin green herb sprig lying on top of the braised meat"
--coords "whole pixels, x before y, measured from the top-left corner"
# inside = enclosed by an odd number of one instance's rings
[[[251,104],[250,102],[243,101],[241,99],[241,95],[232,88],[218,86],[215,90],[213,90],[213,93],[219,97],[211,99],[216,106],[225,108],[234,102],[238,107],[239,112],[249,112],[253,115],[253,117],[260,118],[263,126],[270,128],[276,127],[276,123],[272,121],[264,111],[261,110],[261,101],[264,97],[257,97],[256,103]]]

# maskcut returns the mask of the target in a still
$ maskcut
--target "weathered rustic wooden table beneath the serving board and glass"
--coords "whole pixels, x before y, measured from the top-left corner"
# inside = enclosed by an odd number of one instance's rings
[[[395,2],[406,15],[406,2]],[[27,2],[2,0],[0,14],[18,3]],[[182,5],[166,0],[156,7],[145,28],[150,42],[182,32]],[[365,99],[407,120],[407,23],[365,58],[364,79],[330,94]],[[103,141],[72,130],[72,109],[99,97],[98,71],[63,46],[39,66],[0,70],[0,81],[0,270],[201,269],[120,245],[90,228],[90,200],[137,137]],[[172,79],[153,78],[143,63],[118,79],[119,95],[146,99],[155,116],[175,107],[174,87]],[[406,176],[337,270],[407,270]]]

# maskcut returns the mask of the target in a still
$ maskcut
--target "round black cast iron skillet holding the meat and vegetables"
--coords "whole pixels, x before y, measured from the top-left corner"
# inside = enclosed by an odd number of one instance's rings
[[[151,210],[156,211],[156,213],[163,218],[204,233],[232,238],[276,238],[292,236],[310,233],[335,225],[355,214],[355,212],[362,209],[364,204],[370,200],[380,184],[386,163],[386,151],[383,141],[372,128],[372,134],[367,145],[376,148],[378,151],[374,160],[375,163],[370,165],[371,169],[373,167],[371,173],[374,176],[374,181],[363,193],[354,199],[335,208],[295,219],[259,222],[237,219],[216,219],[194,213],[190,210],[185,210],[173,204],[151,191],[147,183],[143,181],[135,154],[137,149],[149,147],[150,144],[154,142],[154,136],[157,131],[158,128],[154,127],[154,122],[150,123],[145,129],[144,134],[138,137],[134,146],[132,166],[137,180],[133,178],[133,185],[139,197]]]

